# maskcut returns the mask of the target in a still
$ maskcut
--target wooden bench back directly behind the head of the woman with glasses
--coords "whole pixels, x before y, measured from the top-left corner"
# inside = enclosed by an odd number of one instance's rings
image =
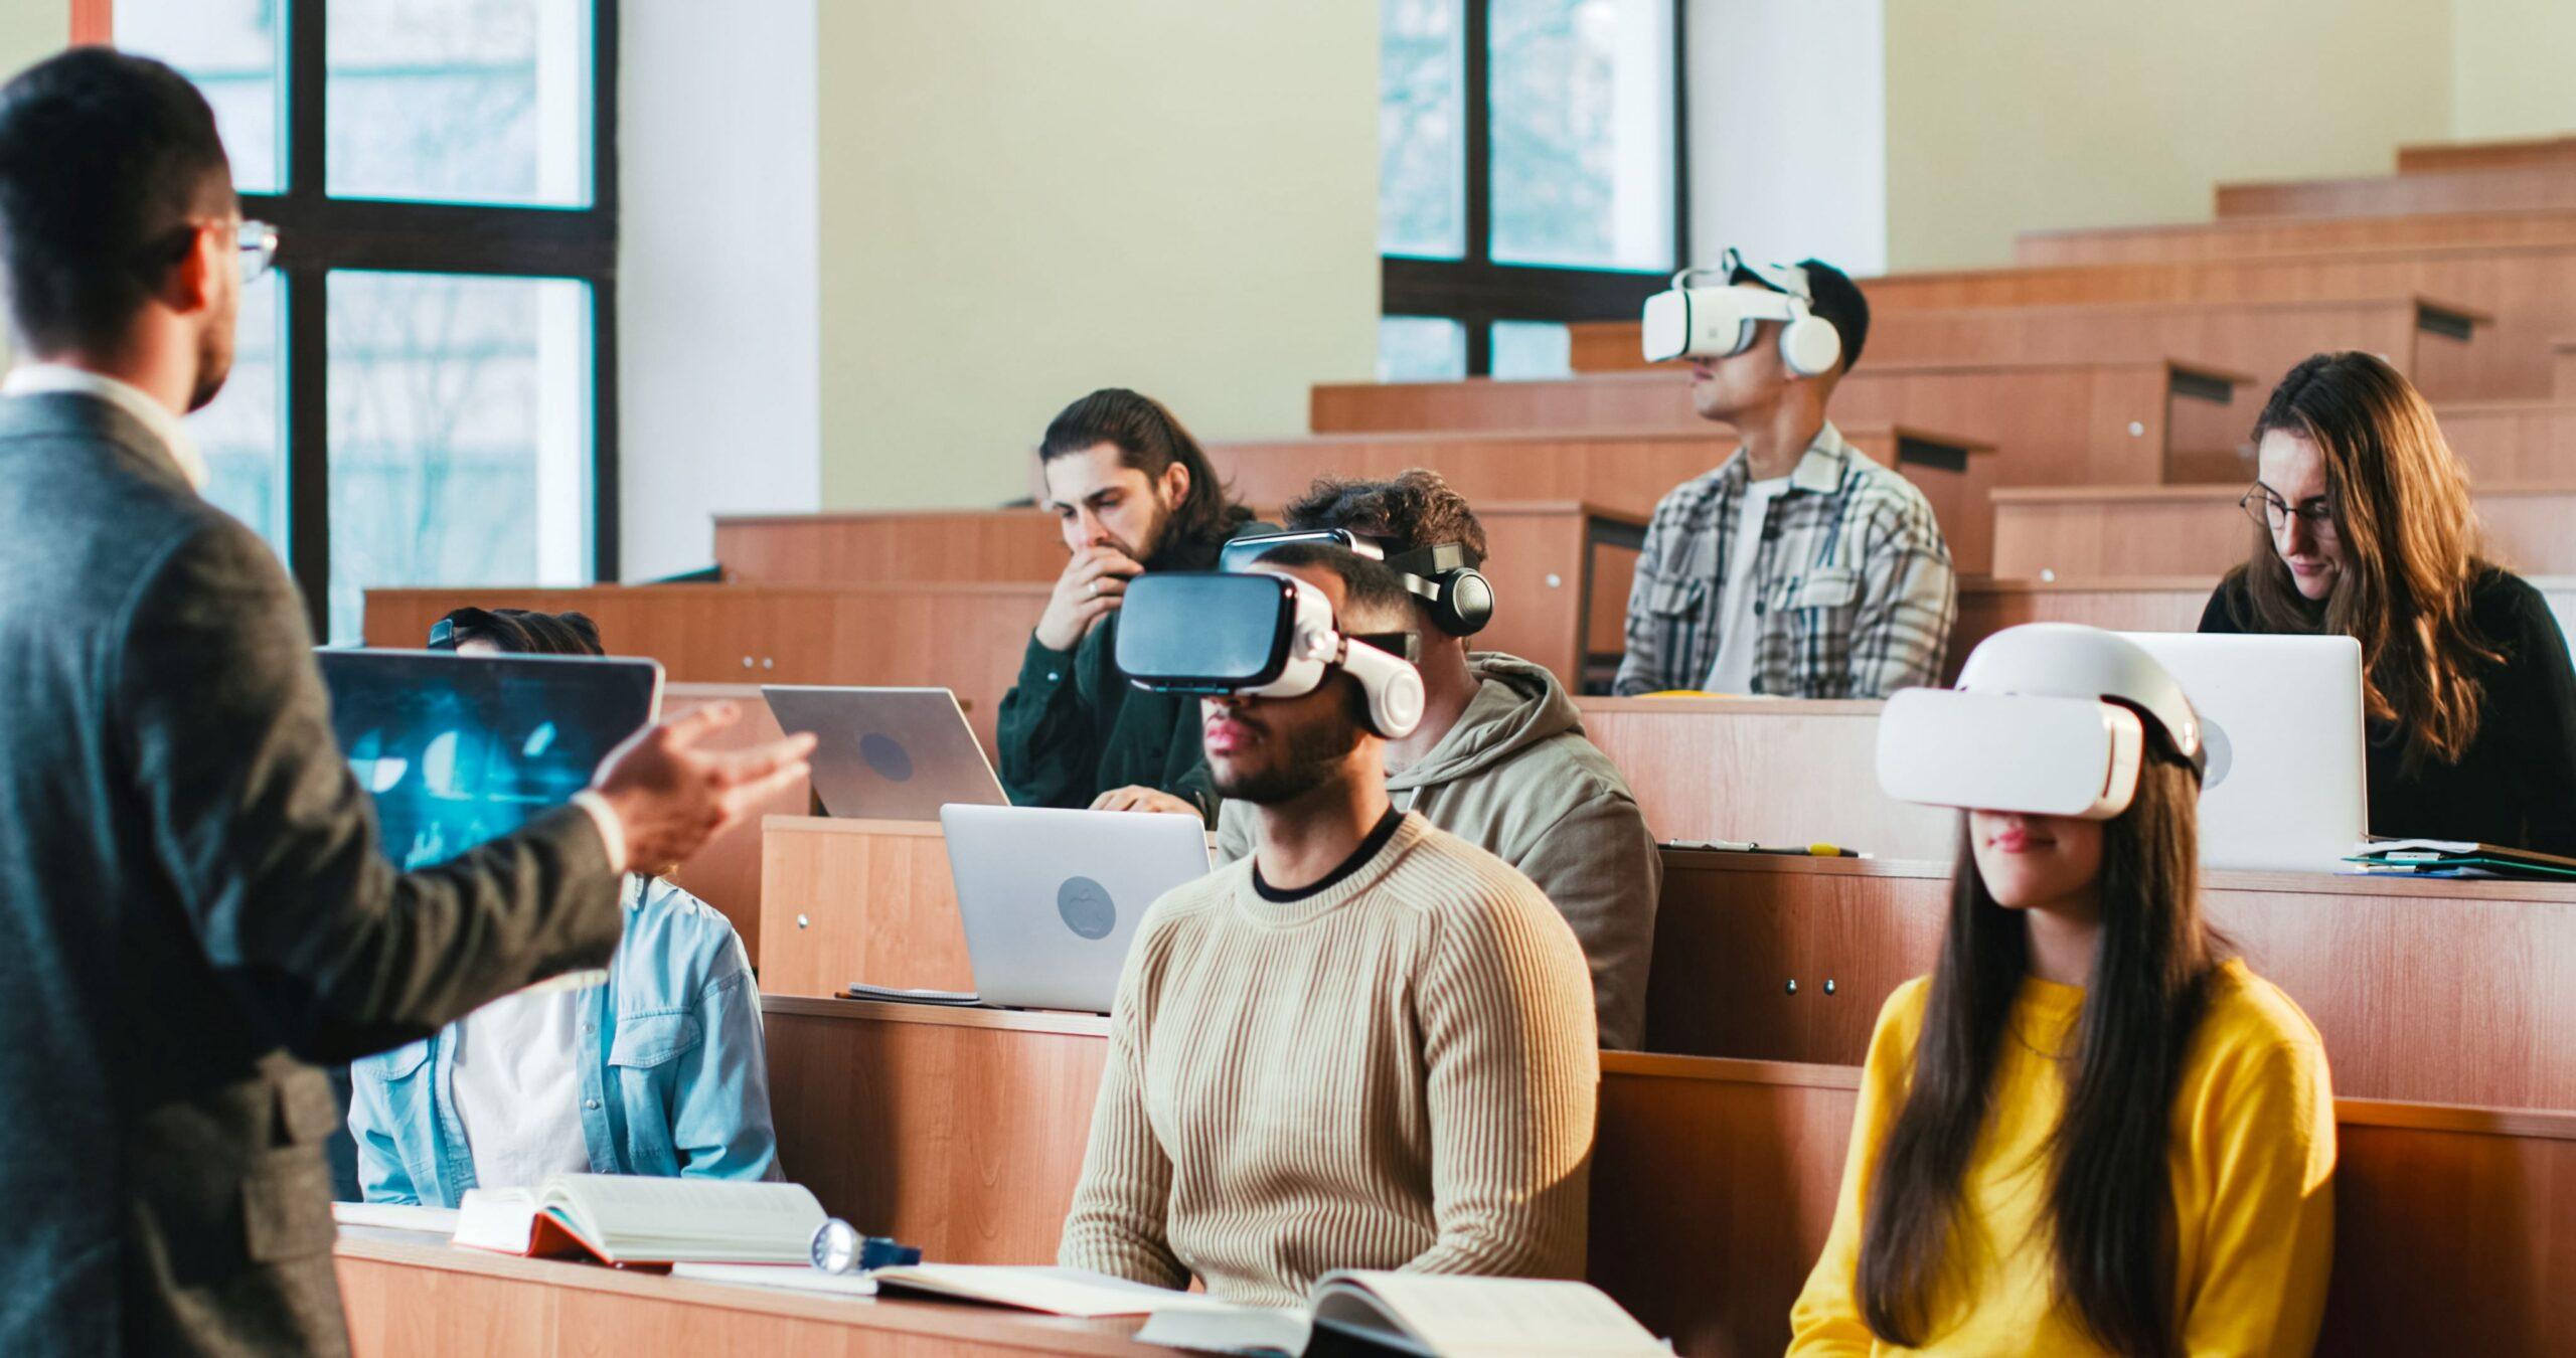
[[[2226,575],[2264,541],[2244,487],[1994,492],[1999,577]],[[2481,490],[2488,554],[2522,575],[2576,575],[2576,487]]]

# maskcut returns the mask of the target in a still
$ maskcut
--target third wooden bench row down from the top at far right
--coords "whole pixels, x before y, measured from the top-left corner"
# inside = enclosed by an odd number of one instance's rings
[[[2159,227],[2022,232],[2017,265],[2184,263],[2264,255],[2388,253],[2463,245],[2576,245],[2576,211],[2455,211],[2421,216],[2257,216]]]

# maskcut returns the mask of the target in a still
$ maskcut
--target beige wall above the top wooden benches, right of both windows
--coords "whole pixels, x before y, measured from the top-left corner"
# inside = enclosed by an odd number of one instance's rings
[[[2450,26],[2442,0],[1886,0],[1888,268],[2205,219],[2221,180],[2388,173],[2450,137]],[[2561,95],[2566,52],[2530,49]]]

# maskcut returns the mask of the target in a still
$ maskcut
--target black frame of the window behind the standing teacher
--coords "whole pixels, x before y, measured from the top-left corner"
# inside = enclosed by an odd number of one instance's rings
[[[569,278],[590,286],[590,577],[618,580],[618,5],[590,0],[590,204],[335,198],[330,0],[278,0],[283,188],[242,193],[278,229],[286,569],[330,639],[330,273]],[[75,0],[72,41],[113,41],[113,0]],[[428,585],[428,582],[425,582]]]

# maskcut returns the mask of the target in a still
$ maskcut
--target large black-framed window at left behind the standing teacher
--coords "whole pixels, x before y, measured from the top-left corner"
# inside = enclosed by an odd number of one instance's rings
[[[214,103],[278,268],[193,430],[314,629],[616,577],[616,3],[113,0]]]

